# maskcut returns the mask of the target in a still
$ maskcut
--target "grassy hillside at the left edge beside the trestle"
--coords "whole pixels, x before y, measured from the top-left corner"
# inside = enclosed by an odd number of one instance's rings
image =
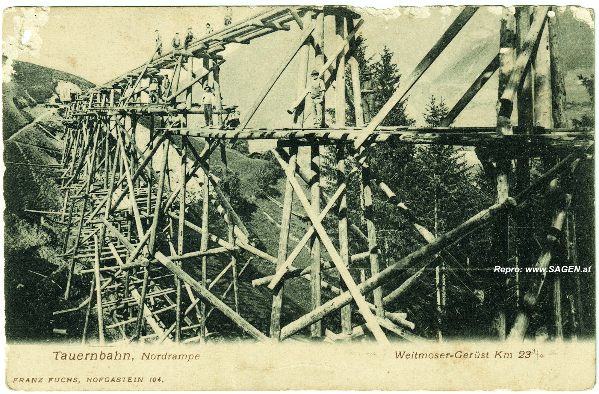
[[[58,80],[71,81],[85,89],[92,86],[75,75],[31,63],[15,62],[14,69],[16,74],[12,80],[2,85],[4,140],[52,108],[46,101],[52,97]],[[44,118],[52,119],[60,117]],[[43,126],[58,135],[62,132],[59,122],[44,123]],[[56,163],[60,161],[61,149],[61,144],[37,125],[24,129],[11,141],[4,141],[4,284],[8,340],[52,337],[52,311],[63,305],[59,300],[62,290],[50,279],[54,278],[59,284],[64,282],[63,272],[55,272],[60,271],[65,262],[53,257],[60,240],[60,226],[52,222],[56,218],[23,211],[60,209],[62,192],[53,169],[7,162]]]

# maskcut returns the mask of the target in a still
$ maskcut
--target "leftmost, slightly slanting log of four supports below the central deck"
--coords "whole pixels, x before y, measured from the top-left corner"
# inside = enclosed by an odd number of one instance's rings
[[[289,147],[289,166],[295,168],[295,163],[298,157],[298,147],[292,144]],[[291,182],[285,182],[285,200],[283,201],[283,213],[281,216],[281,232],[279,235],[279,254],[277,259],[277,269],[280,268],[287,259],[287,247],[289,243],[289,224],[291,222],[291,206],[294,201],[294,189]],[[270,337],[279,340],[281,334],[281,307],[283,304],[283,286],[285,281],[281,281],[279,286],[274,290],[273,309],[270,315]]]

